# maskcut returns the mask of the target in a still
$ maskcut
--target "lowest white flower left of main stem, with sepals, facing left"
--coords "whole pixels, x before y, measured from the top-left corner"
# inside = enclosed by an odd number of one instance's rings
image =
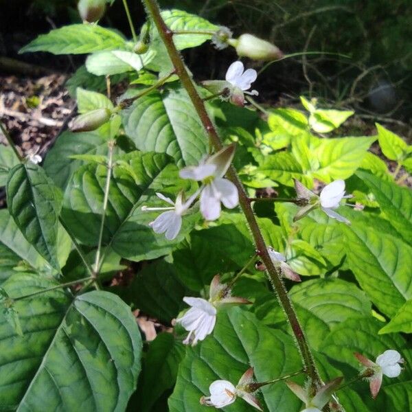
[[[262,411],[258,399],[252,395],[255,389],[250,385],[251,382],[253,382],[253,367],[244,372],[236,387],[229,380],[215,380],[209,386],[210,396],[202,396],[201,404],[207,407],[223,408],[235,402],[239,397]]]

